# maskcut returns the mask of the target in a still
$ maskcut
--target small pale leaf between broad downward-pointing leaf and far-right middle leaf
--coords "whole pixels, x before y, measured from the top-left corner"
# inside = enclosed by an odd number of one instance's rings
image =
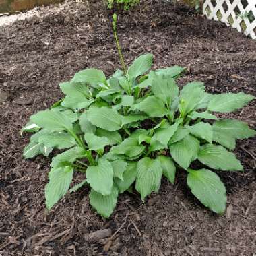
[[[210,125],[209,123],[199,122],[199,123],[196,123],[195,125],[187,126],[187,129],[195,137],[205,139],[209,143],[212,143],[213,131],[212,131],[212,125]]]

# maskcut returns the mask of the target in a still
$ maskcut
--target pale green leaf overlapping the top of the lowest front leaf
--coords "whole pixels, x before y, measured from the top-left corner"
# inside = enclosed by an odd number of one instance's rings
[[[87,181],[96,192],[110,195],[113,187],[113,168],[108,160],[100,159],[98,166],[89,166],[86,170]]]

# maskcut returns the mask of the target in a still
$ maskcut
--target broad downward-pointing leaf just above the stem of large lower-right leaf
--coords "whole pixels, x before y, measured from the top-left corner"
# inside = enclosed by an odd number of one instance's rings
[[[185,170],[197,158],[200,143],[195,137],[187,135],[181,141],[170,145],[170,154],[175,162]]]

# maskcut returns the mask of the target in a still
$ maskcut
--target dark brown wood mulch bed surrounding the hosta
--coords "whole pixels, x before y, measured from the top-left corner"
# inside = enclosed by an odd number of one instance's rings
[[[188,67],[181,84],[199,79],[209,92],[256,96],[256,42],[235,30],[160,1],[120,13],[118,30],[128,63],[152,52],[155,67]],[[53,9],[0,28],[0,255],[253,256],[256,139],[238,141],[244,173],[221,173],[228,190],[224,216],[191,196],[182,172],[175,185],[163,181],[160,194],[146,205],[137,195],[119,197],[109,220],[91,210],[87,190],[68,195],[46,213],[49,160],[23,160],[28,137],[21,138],[19,130],[32,113],[61,98],[59,82],[86,67],[109,75],[117,65],[110,13],[100,1],[68,3],[59,13]],[[255,128],[255,102],[229,117]],[[102,229],[115,235],[88,241],[88,234]]]

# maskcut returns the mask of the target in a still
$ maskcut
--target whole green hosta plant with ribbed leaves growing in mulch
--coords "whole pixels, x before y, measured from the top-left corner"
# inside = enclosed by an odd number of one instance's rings
[[[30,117],[22,131],[34,134],[24,157],[53,156],[48,210],[68,191],[88,186],[90,204],[108,218],[119,194],[135,189],[144,201],[158,192],[162,177],[174,183],[176,171],[184,170],[193,195],[224,212],[226,189],[213,170],[242,171],[230,150],[255,131],[216,113],[238,110],[254,97],[209,94],[201,82],[179,88],[175,78],[184,69],[150,71],[152,59],[141,55],[128,69],[122,59],[123,71],[108,78],[98,69],[79,71],[60,84],[63,99]],[[75,172],[84,180],[71,187]]]

